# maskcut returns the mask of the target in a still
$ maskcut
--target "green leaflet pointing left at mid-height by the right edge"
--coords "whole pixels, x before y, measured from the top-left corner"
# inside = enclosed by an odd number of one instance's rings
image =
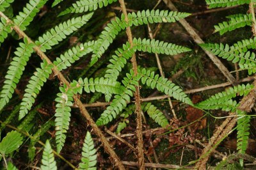
[[[207,100],[196,104],[196,106],[202,109],[223,109],[223,111],[230,111],[236,106],[236,101],[231,100],[232,98],[239,96],[246,96],[253,89],[251,84],[242,84],[234,86],[234,88],[228,88],[226,91],[217,93]],[[230,107],[225,107],[230,106]]]

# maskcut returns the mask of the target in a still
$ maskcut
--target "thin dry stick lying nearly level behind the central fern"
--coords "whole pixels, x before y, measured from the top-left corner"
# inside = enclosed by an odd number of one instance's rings
[[[252,81],[253,80],[253,77],[246,77],[244,79],[241,79],[239,80],[239,82],[248,82],[248,81]],[[197,92],[200,92],[200,91],[205,91],[205,90],[209,90],[209,89],[216,89],[216,88],[224,88],[226,86],[230,86],[232,85],[230,82],[223,82],[221,84],[215,84],[215,85],[212,85],[212,86],[206,86],[206,87],[203,87],[203,88],[197,88],[197,89],[188,89],[186,91],[184,91],[186,94],[190,94],[190,93],[197,93]],[[152,101],[152,100],[161,100],[161,99],[164,99],[164,98],[168,98],[170,97],[169,95],[162,95],[162,96],[158,96],[158,97],[147,97],[147,98],[141,98],[140,101],[141,102],[149,102],[149,101]],[[135,101],[132,101],[132,102],[135,102]],[[111,104],[111,102],[96,102],[96,103],[93,103],[93,104],[83,104],[84,107],[104,107],[106,105],[109,105]]]

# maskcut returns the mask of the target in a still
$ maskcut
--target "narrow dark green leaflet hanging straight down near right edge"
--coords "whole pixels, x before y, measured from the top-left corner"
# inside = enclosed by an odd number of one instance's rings
[[[237,150],[245,153],[250,134],[250,116],[244,111],[237,111],[237,116]]]

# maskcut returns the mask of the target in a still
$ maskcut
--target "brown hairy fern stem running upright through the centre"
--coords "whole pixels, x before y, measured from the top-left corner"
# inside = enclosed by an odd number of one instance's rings
[[[122,12],[124,13],[125,21],[128,24],[129,19],[128,19],[124,0],[119,0],[119,3],[121,5]],[[131,47],[132,47],[133,42],[132,42],[131,27],[127,27],[126,34],[128,36],[129,43],[131,44]],[[134,75],[136,76],[138,74],[138,70],[137,70],[137,61],[136,61],[135,54],[132,55],[131,61],[132,61],[132,70],[134,71]],[[138,138],[138,162],[140,165],[140,169],[145,169],[144,153],[143,153],[143,135],[141,133],[142,132],[142,115],[141,115],[141,105],[140,105],[140,88],[139,88],[139,86],[135,86],[135,89],[136,89],[136,91],[135,91],[135,106],[136,106],[135,112],[137,115],[136,135]]]

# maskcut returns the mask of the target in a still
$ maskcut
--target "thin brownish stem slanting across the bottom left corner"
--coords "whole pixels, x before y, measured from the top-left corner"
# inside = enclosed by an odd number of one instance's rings
[[[0,120],[0,123],[2,124],[4,122]],[[5,124],[5,126],[8,127],[8,128],[12,128],[13,130],[16,130],[20,134],[26,135],[27,137],[35,140],[37,143],[41,144],[42,146],[45,146],[45,144],[42,141],[37,140],[35,137],[33,137],[33,135],[28,134],[28,132],[24,132],[24,131],[20,130],[19,128],[13,127],[12,125],[9,125],[9,124]],[[56,155],[57,157],[61,158],[64,162],[66,162],[68,164],[68,166],[72,167],[73,169],[77,169],[73,164],[71,164],[68,160],[66,160],[64,157],[62,157],[56,151],[52,150],[52,153],[54,153],[54,155]]]

